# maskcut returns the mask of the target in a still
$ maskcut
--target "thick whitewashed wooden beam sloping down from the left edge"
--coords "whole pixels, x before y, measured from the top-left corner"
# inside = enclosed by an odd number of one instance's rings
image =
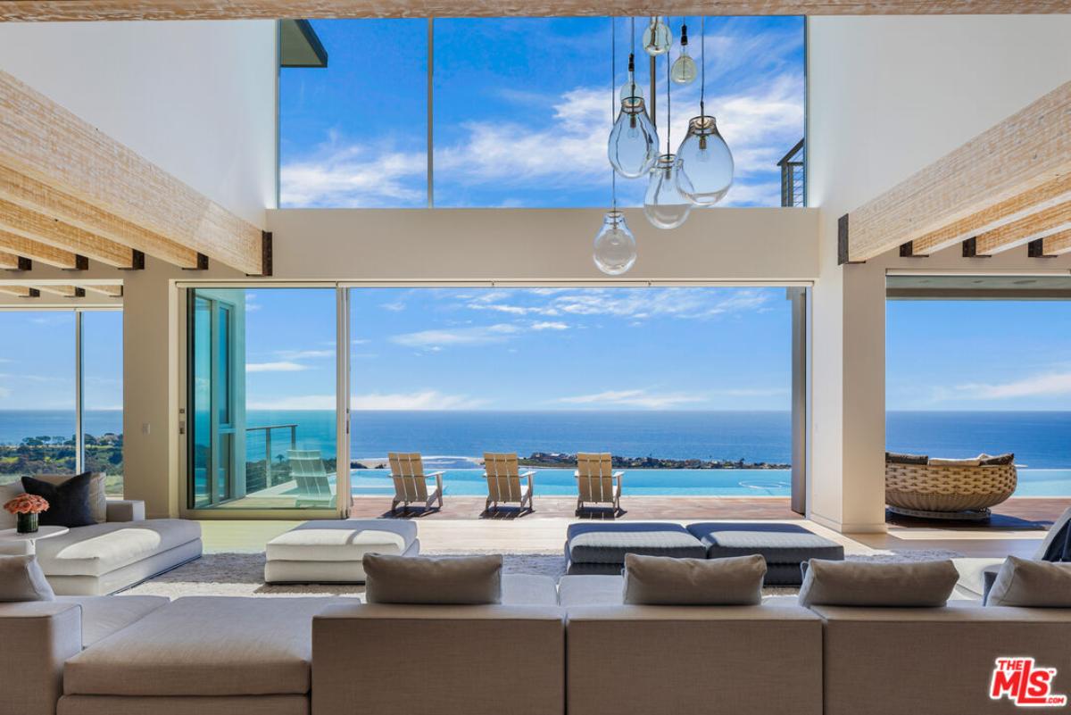
[[[0,165],[225,265],[270,274],[260,228],[5,72]]]

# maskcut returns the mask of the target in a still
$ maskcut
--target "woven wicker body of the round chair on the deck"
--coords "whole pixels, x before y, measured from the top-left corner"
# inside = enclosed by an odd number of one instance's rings
[[[990,507],[1015,491],[1014,465],[949,467],[885,466],[885,501],[905,516],[935,519],[985,519]]]

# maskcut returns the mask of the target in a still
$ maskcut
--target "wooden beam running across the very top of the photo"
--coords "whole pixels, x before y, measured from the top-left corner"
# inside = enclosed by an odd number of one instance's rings
[[[1068,12],[1064,0],[4,0],[3,20],[605,15],[998,15]]]

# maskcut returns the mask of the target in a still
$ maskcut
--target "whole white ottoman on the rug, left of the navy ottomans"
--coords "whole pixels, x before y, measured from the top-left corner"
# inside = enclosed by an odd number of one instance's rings
[[[414,557],[420,541],[412,521],[306,521],[268,542],[266,551],[266,583],[363,583],[365,553]]]

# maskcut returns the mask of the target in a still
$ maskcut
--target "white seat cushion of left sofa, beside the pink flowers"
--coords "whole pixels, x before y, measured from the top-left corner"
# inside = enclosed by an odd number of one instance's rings
[[[197,521],[109,521],[41,539],[37,560],[48,576],[103,576],[199,538]]]

